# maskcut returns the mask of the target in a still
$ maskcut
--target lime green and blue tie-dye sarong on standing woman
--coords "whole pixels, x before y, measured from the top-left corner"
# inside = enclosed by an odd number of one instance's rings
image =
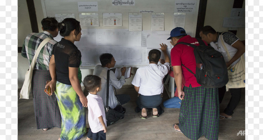
[[[55,94],[62,118],[61,140],[77,140],[86,133],[86,114],[80,98],[71,85],[57,81]]]

